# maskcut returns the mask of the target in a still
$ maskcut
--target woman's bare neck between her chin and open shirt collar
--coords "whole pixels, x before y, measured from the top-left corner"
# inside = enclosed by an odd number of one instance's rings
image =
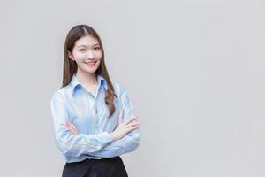
[[[85,86],[97,85],[96,73],[84,73],[78,70],[76,73],[76,77]]]

